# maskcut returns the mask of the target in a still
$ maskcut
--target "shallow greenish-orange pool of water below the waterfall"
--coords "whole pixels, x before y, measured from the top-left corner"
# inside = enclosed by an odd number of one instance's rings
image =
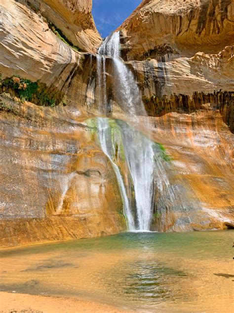
[[[234,231],[121,233],[0,252],[0,290],[136,312],[233,312]]]

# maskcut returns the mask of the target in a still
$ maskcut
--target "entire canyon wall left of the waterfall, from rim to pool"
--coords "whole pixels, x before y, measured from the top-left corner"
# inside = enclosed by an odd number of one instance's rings
[[[101,39],[90,11],[91,1],[0,1],[3,247],[126,229],[115,173],[82,110],[91,54],[76,51],[48,25],[51,14],[53,25],[69,24],[63,38],[95,52]],[[28,86],[27,79],[39,81],[47,90],[42,106],[17,98],[15,85],[6,85],[11,76]],[[45,107],[50,95],[60,104]]]

